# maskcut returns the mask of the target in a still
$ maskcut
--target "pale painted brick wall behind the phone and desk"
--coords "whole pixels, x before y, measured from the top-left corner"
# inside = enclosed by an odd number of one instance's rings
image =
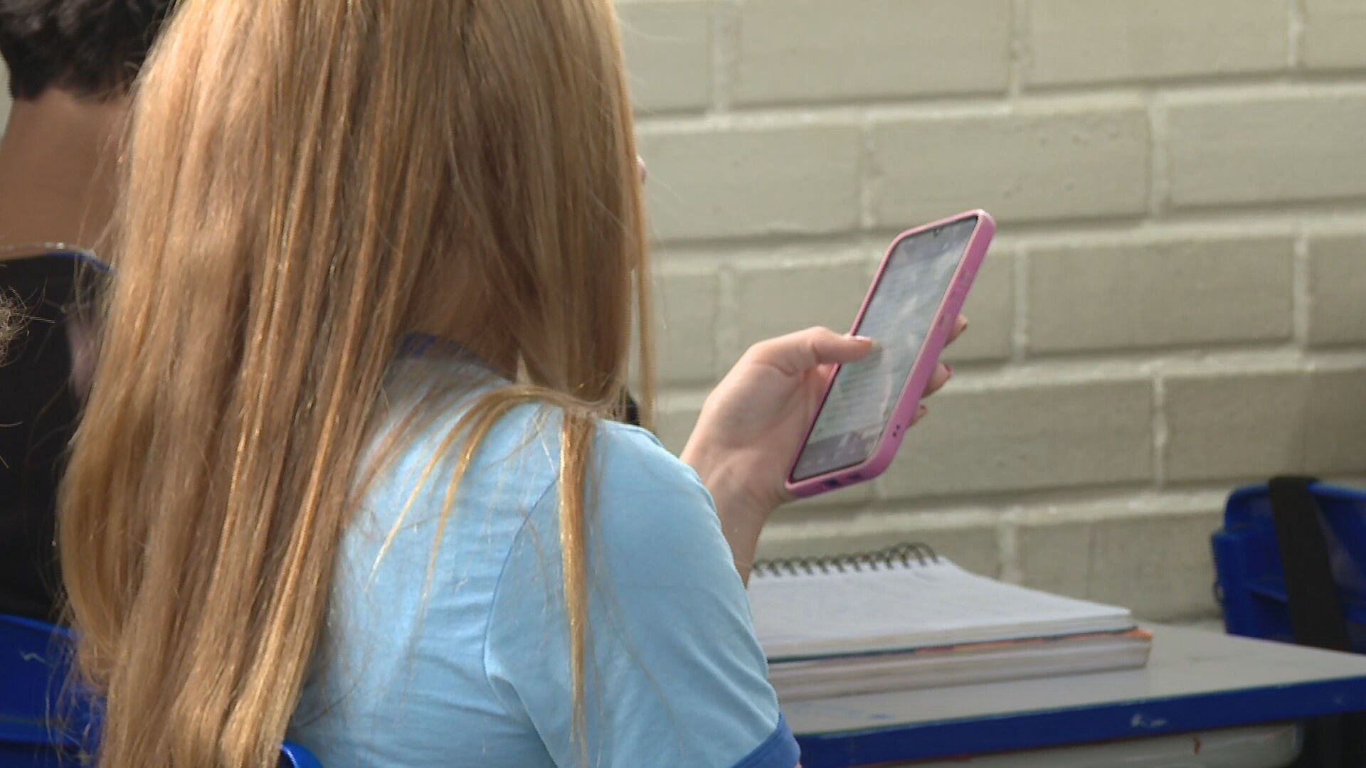
[[[923,540],[1212,615],[1229,488],[1366,476],[1366,0],[620,0],[682,447],[744,347],[848,328],[900,228],[1000,234],[956,376],[768,555]]]

